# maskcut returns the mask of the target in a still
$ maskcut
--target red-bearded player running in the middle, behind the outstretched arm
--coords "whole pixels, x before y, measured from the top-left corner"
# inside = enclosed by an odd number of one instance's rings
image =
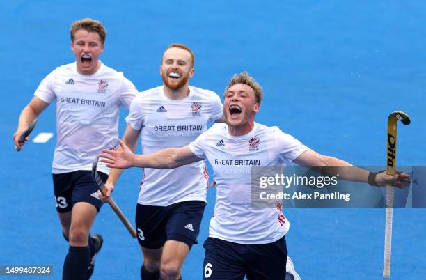
[[[163,85],[139,94],[130,106],[123,141],[136,147],[139,134],[143,153],[186,146],[207,130],[207,123],[223,121],[219,95],[189,86],[194,54],[185,45],[167,47],[161,58]],[[107,199],[121,169],[106,182]],[[182,263],[197,243],[206,204],[208,175],[204,162],[179,169],[143,169],[136,205],[136,228],[143,254],[141,279],[180,278]]]

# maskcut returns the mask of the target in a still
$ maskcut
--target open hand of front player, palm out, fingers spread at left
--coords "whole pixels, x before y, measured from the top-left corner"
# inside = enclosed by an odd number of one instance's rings
[[[102,150],[101,162],[105,162],[108,167],[126,169],[134,166],[134,153],[126,144],[118,139],[121,150]]]

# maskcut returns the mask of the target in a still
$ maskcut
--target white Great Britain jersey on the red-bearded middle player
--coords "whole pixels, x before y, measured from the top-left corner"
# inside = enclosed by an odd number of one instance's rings
[[[141,130],[142,152],[155,153],[170,147],[187,146],[219,119],[223,105],[212,91],[189,86],[189,95],[171,100],[163,86],[137,95],[126,120]],[[204,162],[177,169],[143,169],[138,203],[167,206],[182,201],[206,201],[208,174]]]

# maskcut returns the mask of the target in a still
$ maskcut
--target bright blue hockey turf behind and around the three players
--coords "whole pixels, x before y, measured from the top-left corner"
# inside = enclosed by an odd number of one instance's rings
[[[233,73],[248,70],[265,91],[258,122],[354,164],[385,164],[386,118],[405,111],[412,123],[400,125],[398,164],[424,165],[425,14],[424,1],[2,1],[0,265],[54,265],[51,279],[61,278],[67,245],[52,194],[55,139],[29,143],[21,153],[10,139],[40,80],[73,60],[72,21],[93,17],[107,26],[102,61],[140,90],[161,83],[160,57],[171,42],[194,49],[194,86],[221,94]],[[52,106],[33,133],[54,131]],[[140,170],[126,171],[115,192],[132,220],[140,179]],[[209,201],[200,242],[214,190]],[[425,214],[395,210],[392,279],[425,279]],[[285,215],[292,224],[290,256],[302,279],[381,279],[384,209],[290,209]],[[105,240],[93,279],[137,279],[139,248],[107,205],[93,232]],[[186,280],[201,279],[200,245],[184,265]]]

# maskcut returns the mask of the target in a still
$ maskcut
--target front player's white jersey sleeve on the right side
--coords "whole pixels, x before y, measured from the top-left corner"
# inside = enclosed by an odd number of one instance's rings
[[[292,162],[309,149],[290,134],[282,132],[278,127],[275,127],[274,134],[278,155],[285,164]]]

